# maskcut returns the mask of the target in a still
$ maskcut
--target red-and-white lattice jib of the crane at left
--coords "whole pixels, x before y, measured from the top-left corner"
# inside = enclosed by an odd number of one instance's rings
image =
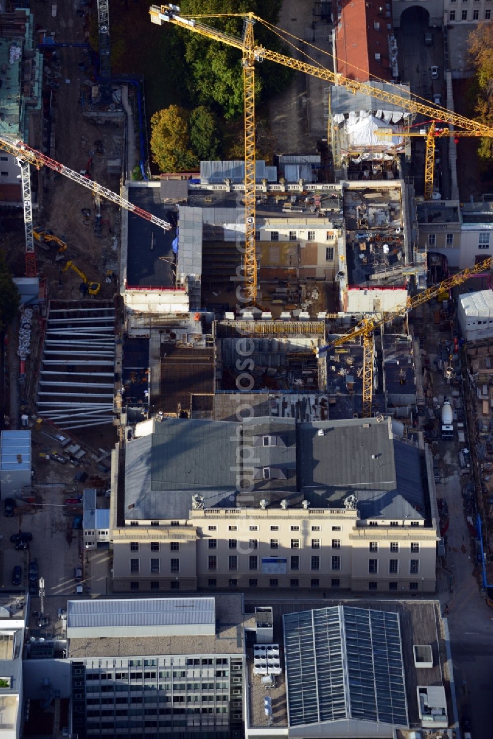
[[[111,200],[111,202],[115,202],[116,205],[120,205],[120,208],[126,208],[130,213],[135,213],[135,215],[140,216],[140,218],[144,218],[147,221],[154,223],[154,225],[164,228],[166,231],[171,229],[171,225],[162,218],[158,218],[152,213],[148,213],[142,208],[138,208],[133,202],[130,202],[112,190],[103,187],[103,185],[99,185],[94,180],[89,180],[89,177],[85,177],[84,174],[79,174],[79,172],[70,169],[64,164],[47,157],[46,154],[41,154],[41,151],[36,151],[32,146],[27,146],[27,144],[22,141],[15,141],[7,136],[1,135],[0,149],[8,151],[9,154],[13,154],[14,157],[18,157],[21,161],[32,164],[37,169],[40,169],[42,166],[47,166],[53,171],[58,172],[58,174],[63,174],[64,177],[68,177],[72,182],[82,185],[92,191],[92,193],[104,197],[106,200]]]

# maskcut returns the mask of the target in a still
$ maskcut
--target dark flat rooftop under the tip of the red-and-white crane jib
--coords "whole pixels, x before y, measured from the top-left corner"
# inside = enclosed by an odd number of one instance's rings
[[[159,218],[167,219],[169,207],[163,205],[158,187],[130,187],[129,200]],[[126,286],[174,287],[172,242],[176,229],[163,228],[129,212]]]

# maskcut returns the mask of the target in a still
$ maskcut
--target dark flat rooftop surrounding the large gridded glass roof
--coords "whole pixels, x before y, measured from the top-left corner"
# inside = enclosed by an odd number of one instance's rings
[[[387,611],[397,613],[400,631],[402,656],[404,662],[404,675],[406,682],[407,710],[409,725],[419,725],[418,701],[416,688],[418,686],[444,686],[446,688],[447,712],[452,716],[452,700],[449,682],[441,672],[441,664],[446,662],[445,645],[441,634],[440,604],[438,601],[398,601],[398,600],[361,600],[357,602],[326,599],[325,607],[334,605],[346,605],[362,609]],[[248,606],[248,610],[254,606]],[[281,647],[281,664],[283,674],[276,678],[275,688],[269,689],[272,700],[272,725],[276,728],[288,726],[287,691],[285,684],[285,655],[283,650],[284,633],[282,627],[282,616],[299,611],[319,610],[320,601],[306,602],[275,602],[273,603],[273,644]],[[417,669],[414,664],[414,644],[428,644],[432,648],[433,667],[429,669]],[[261,678],[253,675],[253,646],[248,646],[247,667],[249,680],[249,709],[250,726],[268,726],[268,717],[264,713],[265,686]],[[309,670],[308,670],[309,672]]]

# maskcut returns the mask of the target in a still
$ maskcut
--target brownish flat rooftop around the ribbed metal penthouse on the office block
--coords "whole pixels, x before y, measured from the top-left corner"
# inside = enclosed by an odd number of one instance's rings
[[[211,600],[195,596],[194,601]],[[115,599],[118,600],[118,599]],[[126,602],[127,599],[124,599]],[[174,654],[242,654],[242,594],[214,595],[215,636],[152,636],[70,638],[69,658]],[[95,604],[98,599],[95,599]]]

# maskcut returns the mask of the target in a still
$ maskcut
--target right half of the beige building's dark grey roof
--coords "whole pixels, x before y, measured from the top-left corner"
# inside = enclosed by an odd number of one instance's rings
[[[424,519],[419,450],[392,438],[389,418],[302,423],[298,435],[298,476],[312,505],[356,494],[362,519]]]

